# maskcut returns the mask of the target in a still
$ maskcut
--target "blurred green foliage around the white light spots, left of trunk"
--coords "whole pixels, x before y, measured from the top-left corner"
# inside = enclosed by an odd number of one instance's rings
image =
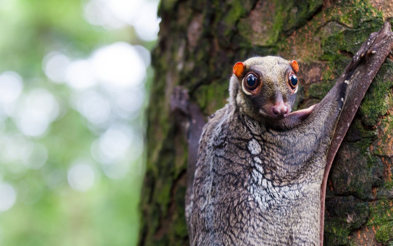
[[[138,39],[132,26],[112,30],[92,26],[83,18],[85,3],[80,0],[0,3],[0,73],[15,71],[23,78],[24,92],[46,88],[65,105],[64,115],[43,136],[23,136],[47,148],[48,159],[42,168],[27,169],[0,157],[0,182],[13,185],[17,193],[15,205],[0,212],[0,245],[136,245],[143,155],[132,163],[124,178],[105,176],[90,154],[99,130],[92,130],[87,120],[68,105],[72,88],[46,78],[42,59],[54,50],[71,57],[88,57],[94,49],[117,41],[150,50],[154,41]],[[129,121],[142,126],[143,122],[142,113]],[[0,136],[20,134],[10,117],[2,125]],[[67,182],[67,170],[77,158],[84,158],[94,166],[94,185],[85,192],[71,189]],[[53,185],[48,185],[48,179],[55,180]]]

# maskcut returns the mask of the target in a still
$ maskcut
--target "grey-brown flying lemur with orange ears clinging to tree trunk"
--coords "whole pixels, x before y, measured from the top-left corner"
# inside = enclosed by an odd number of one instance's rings
[[[386,22],[320,103],[295,112],[299,66],[281,57],[237,62],[228,103],[206,125],[177,88],[173,109],[187,116],[191,246],[322,245],[331,163],[392,48]]]

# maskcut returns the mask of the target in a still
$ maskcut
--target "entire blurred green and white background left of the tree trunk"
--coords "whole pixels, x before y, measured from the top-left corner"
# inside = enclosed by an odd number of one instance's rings
[[[158,0],[0,0],[0,245],[136,245]]]

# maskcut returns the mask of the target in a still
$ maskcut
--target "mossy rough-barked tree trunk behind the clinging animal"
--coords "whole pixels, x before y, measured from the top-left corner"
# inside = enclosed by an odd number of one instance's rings
[[[281,55],[299,62],[299,108],[319,102],[393,0],[164,0],[148,110],[140,245],[188,245],[186,141],[170,114],[176,85],[208,116],[228,98],[237,61]],[[392,22],[392,21],[391,21]],[[393,62],[386,59],[329,176],[325,245],[393,246]]]

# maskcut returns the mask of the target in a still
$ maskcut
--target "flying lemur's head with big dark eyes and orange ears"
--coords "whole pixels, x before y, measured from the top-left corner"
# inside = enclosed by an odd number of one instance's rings
[[[298,63],[281,57],[252,57],[233,66],[230,101],[253,118],[288,116],[298,91]]]

